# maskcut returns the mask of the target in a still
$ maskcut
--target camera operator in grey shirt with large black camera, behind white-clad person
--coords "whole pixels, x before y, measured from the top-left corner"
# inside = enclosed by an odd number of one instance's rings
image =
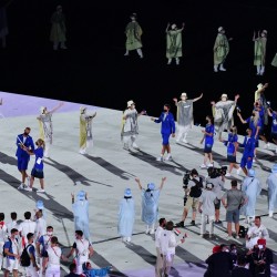
[[[216,168],[216,167],[209,167],[207,170],[208,172],[208,177],[206,179],[206,183],[212,183],[214,185],[213,192],[216,194],[216,202],[215,202],[215,224],[222,224],[222,220],[219,220],[219,215],[220,215],[220,202],[223,197],[223,188],[225,184],[225,174],[226,170],[222,168]]]

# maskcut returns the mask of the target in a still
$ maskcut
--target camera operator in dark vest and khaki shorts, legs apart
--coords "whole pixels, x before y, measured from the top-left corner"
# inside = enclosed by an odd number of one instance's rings
[[[194,168],[191,174],[186,173],[183,179],[183,188],[185,191],[184,196],[184,212],[182,220],[176,224],[176,227],[184,227],[185,219],[189,208],[193,208],[192,225],[195,225],[196,209],[198,207],[199,196],[202,195],[203,178],[198,175],[198,172]]]

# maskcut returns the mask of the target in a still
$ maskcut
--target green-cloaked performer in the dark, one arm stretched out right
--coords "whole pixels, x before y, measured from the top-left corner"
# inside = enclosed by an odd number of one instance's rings
[[[218,34],[214,44],[214,72],[218,72],[218,65],[220,71],[226,71],[223,64],[229,53],[230,40],[233,39],[227,39],[227,37],[225,35],[225,29],[223,27],[219,27]]]

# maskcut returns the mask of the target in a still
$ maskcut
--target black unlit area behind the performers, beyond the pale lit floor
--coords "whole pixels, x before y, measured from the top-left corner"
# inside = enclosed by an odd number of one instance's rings
[[[68,50],[53,51],[49,41],[57,4],[62,4],[66,18]],[[136,51],[124,57],[124,29],[132,12],[144,32],[142,60]],[[277,52],[276,0],[13,0],[7,16],[7,49],[0,48],[2,91],[119,110],[132,99],[138,111],[155,116],[183,91],[189,99],[203,92],[204,99],[195,103],[195,122],[204,124],[212,112],[209,102],[218,101],[222,93],[229,99],[239,93],[238,105],[248,116],[256,85],[268,82],[266,96],[277,105],[277,69],[270,65]],[[167,22],[186,23],[178,66],[174,61],[166,64]],[[227,72],[214,73],[213,45],[219,25],[234,40]],[[254,30],[263,29],[268,31],[267,66],[265,75],[257,76],[252,38]]]

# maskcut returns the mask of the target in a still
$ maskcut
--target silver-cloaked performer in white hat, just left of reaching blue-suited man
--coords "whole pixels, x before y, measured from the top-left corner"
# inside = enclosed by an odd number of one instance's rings
[[[137,117],[142,114],[145,114],[145,111],[137,113],[134,101],[127,101],[127,109],[123,113],[123,125],[121,131],[124,150],[130,150],[130,146],[134,150],[140,150],[135,140],[138,134]]]

